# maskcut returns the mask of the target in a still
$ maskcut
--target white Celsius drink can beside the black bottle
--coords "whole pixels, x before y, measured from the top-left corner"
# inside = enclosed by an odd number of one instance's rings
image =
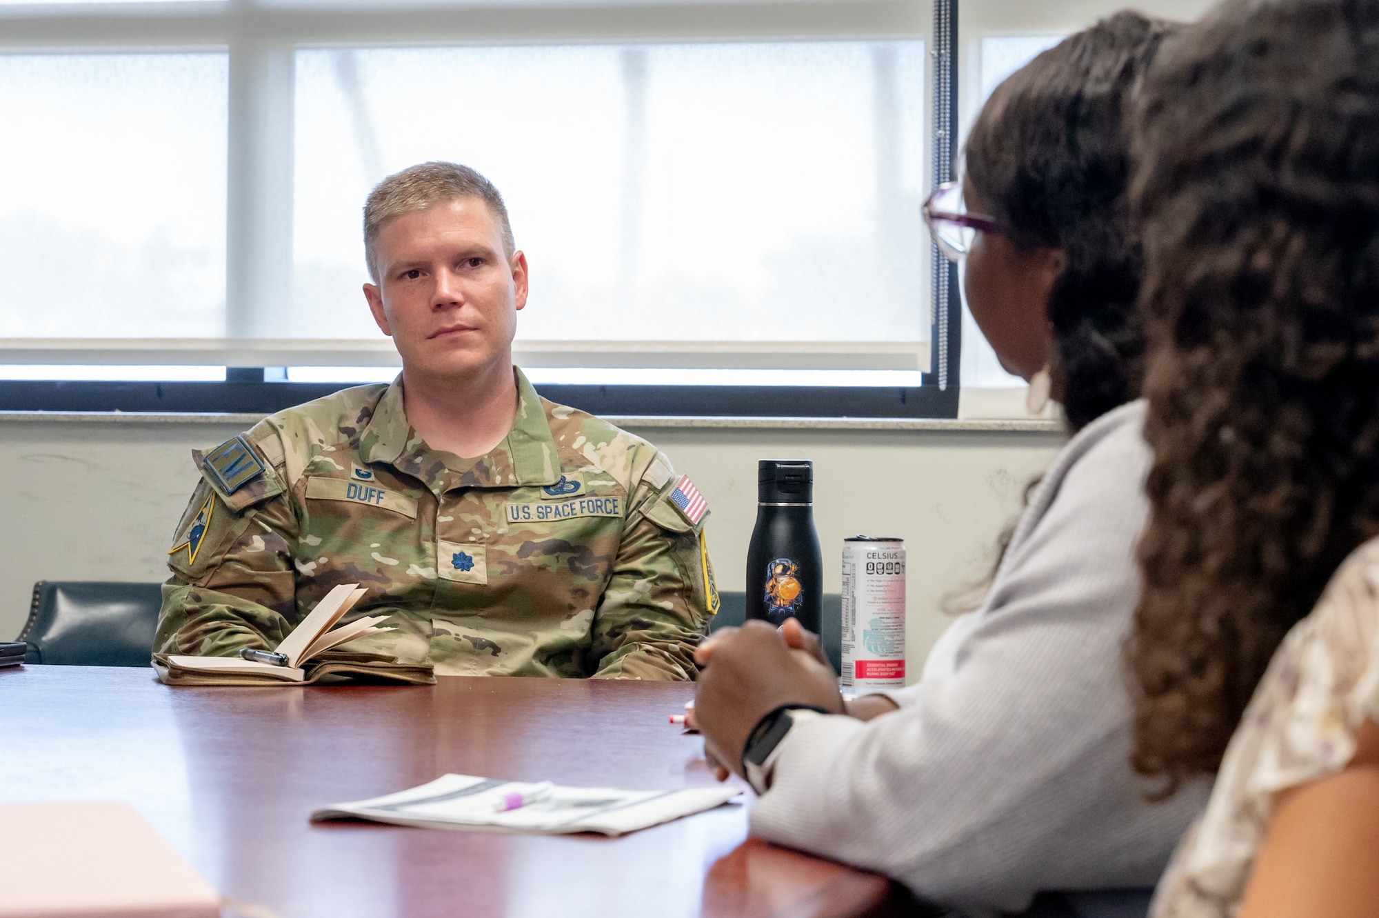
[[[843,540],[843,689],[905,686],[905,540]]]

